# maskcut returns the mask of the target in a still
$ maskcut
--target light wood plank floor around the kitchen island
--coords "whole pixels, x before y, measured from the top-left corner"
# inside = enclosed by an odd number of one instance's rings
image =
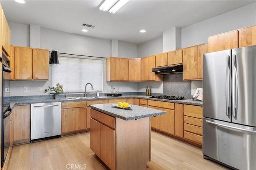
[[[72,164],[73,168],[71,168]],[[90,150],[90,132],[14,146],[7,168],[9,170],[108,169]],[[202,149],[196,146],[152,131],[151,162],[147,163],[147,170],[169,169],[228,168],[205,160],[202,157]]]

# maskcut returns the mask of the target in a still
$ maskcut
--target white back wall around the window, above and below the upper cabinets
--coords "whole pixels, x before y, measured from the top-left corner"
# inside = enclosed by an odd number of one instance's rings
[[[13,38],[12,45],[29,46],[29,43],[20,43],[20,35],[28,33],[29,26],[10,23],[9,24]],[[21,30],[19,29],[21,28]],[[108,57],[111,54],[110,40],[93,38],[88,36],[81,36],[77,34],[70,34],[56,30],[41,28],[40,32],[41,48],[56,50],[61,53],[70,53],[78,55],[90,55],[98,57]],[[29,36],[24,36],[24,42],[29,42]],[[137,45],[129,43],[120,43],[120,50],[122,56],[134,56],[137,54]],[[128,49],[125,48],[128,46]],[[137,56],[136,56],[137,57]],[[49,65],[49,81],[11,81],[10,82],[10,96],[25,96],[25,95],[44,95],[44,89],[51,84],[51,65]],[[134,92],[138,89],[136,82],[106,82],[106,61],[103,61],[103,92],[108,93],[111,85],[119,86],[120,93]],[[27,87],[28,92],[23,92],[23,87]],[[42,92],[38,92],[38,87],[42,87]]]

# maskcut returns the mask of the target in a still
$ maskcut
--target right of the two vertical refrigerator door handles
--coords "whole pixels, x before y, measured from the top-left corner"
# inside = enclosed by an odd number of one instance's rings
[[[236,55],[234,54],[234,69],[232,73],[232,115],[236,117],[237,113],[237,98],[238,98],[238,91],[237,91],[237,62],[236,62]]]

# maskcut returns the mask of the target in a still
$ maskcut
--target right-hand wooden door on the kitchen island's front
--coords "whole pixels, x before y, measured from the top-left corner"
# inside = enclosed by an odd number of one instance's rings
[[[115,169],[115,131],[100,124],[100,159],[110,168]]]

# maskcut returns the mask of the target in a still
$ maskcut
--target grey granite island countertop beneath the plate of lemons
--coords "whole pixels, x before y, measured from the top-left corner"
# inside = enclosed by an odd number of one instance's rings
[[[125,121],[166,114],[166,111],[160,111],[137,105],[131,105],[132,107],[126,109],[118,108],[113,105],[113,103],[106,103],[90,105],[90,107],[96,111],[100,111],[113,117],[118,117]]]

